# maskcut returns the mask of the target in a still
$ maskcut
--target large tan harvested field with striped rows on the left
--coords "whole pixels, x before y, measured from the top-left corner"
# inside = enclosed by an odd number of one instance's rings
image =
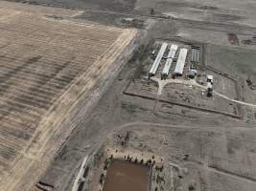
[[[42,159],[61,121],[99,87],[136,35],[30,8],[0,3],[0,190],[5,191]]]

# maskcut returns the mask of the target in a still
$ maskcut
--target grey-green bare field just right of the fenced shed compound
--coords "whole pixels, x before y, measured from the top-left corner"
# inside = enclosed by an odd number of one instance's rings
[[[228,48],[225,46],[210,45],[207,48],[206,64],[239,79],[242,99],[254,103],[256,91],[255,84],[255,53],[252,50],[241,48]],[[224,89],[222,89],[223,91]]]

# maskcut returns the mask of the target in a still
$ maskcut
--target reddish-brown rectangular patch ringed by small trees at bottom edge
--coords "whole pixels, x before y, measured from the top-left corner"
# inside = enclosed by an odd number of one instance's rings
[[[104,191],[147,191],[149,181],[148,166],[115,159],[107,170]]]

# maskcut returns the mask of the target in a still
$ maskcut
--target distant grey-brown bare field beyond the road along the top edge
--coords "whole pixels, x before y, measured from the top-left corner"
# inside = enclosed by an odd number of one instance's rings
[[[216,23],[232,23],[256,26],[255,2],[245,0],[16,0],[35,5],[49,5],[63,8],[117,11],[150,15],[154,14],[177,19],[199,20]]]

